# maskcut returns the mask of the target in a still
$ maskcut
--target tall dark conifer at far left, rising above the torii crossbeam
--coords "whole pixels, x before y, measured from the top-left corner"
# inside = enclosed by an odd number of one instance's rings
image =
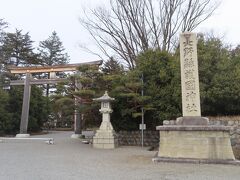
[[[2,23],[2,26],[6,24]],[[2,27],[2,28],[4,28]],[[9,79],[16,78],[8,71],[9,65],[31,66],[38,63],[38,55],[34,53],[33,41],[28,33],[16,29],[14,33],[2,33],[0,46],[0,86],[5,86]]]

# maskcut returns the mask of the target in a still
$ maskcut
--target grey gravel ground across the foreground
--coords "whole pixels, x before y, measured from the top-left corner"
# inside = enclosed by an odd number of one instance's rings
[[[141,147],[93,149],[71,132],[34,137],[42,141],[0,143],[0,180],[239,180],[240,166],[153,163],[156,151]]]

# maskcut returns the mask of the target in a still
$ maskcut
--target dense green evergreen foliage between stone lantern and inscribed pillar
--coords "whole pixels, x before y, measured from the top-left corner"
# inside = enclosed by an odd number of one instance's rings
[[[123,86],[116,86],[120,92],[115,97],[122,101],[121,119],[128,119],[121,128],[136,130],[141,122],[141,108],[148,129],[155,129],[164,119],[180,115],[180,69],[172,54],[160,50],[140,54],[136,68],[122,76],[120,82]]]

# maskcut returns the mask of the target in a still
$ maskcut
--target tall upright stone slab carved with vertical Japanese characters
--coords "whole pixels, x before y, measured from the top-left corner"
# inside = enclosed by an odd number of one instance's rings
[[[180,35],[180,62],[183,116],[201,116],[196,34]]]

